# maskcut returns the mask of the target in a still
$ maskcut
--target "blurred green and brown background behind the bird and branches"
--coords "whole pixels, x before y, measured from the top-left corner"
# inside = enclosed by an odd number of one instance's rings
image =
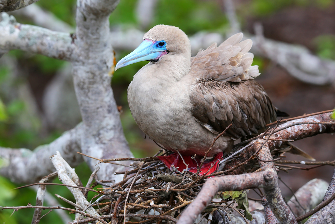
[[[241,30],[245,34],[254,34],[254,25],[261,24],[266,38],[303,45],[325,60],[335,60],[335,1],[235,0],[233,3]],[[36,5],[40,7],[38,10],[44,10],[41,13],[51,12],[55,19],[63,21],[54,27],[52,24],[45,24],[46,27],[56,31],[74,31],[74,0],[41,0]],[[156,24],[178,26],[189,37],[199,35],[202,31],[224,36],[231,32],[225,7],[222,0],[121,0],[110,17],[111,31],[125,35],[128,32],[134,38],[126,38],[127,41],[122,44],[115,43],[117,61],[134,50],[141,43],[144,32]],[[151,10],[145,11],[145,8]],[[20,23],[43,25],[43,21],[36,18],[39,14],[32,15],[24,10],[11,14]],[[209,41],[203,45],[206,44],[209,46],[211,43]],[[149,138],[144,138],[144,133],[134,122],[127,104],[127,87],[133,75],[146,63],[119,69],[111,84],[116,102],[121,108],[124,132],[135,157],[152,156],[159,149]],[[256,80],[263,85],[273,104],[291,117],[334,108],[334,84],[308,84],[292,77],[277,63],[262,57],[255,57],[254,65],[259,65],[261,72]],[[35,149],[41,144],[52,142],[80,121],[70,63],[22,51],[11,51],[0,59],[1,147]],[[335,159],[335,137],[331,134],[309,137],[294,145],[308,152],[317,161]],[[285,155],[289,160],[304,160],[298,156]],[[279,176],[296,191],[313,178],[330,181],[333,170],[334,167],[323,166],[310,171],[291,170],[288,174],[280,171]],[[84,163],[76,168],[76,172],[83,183],[87,182],[91,173]],[[17,186],[20,185],[0,177],[0,205],[35,205],[34,189],[10,190]],[[283,196],[289,199],[291,191],[283,184],[280,187]],[[57,193],[73,199],[65,187],[48,186],[47,189],[52,195]],[[68,206],[63,201],[58,201],[63,206]],[[0,221],[2,216],[11,212],[1,211]],[[19,210],[12,216],[12,223],[30,223],[33,213],[32,209]],[[40,223],[50,222],[63,223],[55,212],[43,217]]]

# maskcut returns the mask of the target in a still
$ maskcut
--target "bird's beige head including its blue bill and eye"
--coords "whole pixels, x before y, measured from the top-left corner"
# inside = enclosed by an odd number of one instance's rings
[[[173,55],[191,57],[191,44],[187,35],[175,26],[156,25],[144,34],[138,48],[116,64],[115,70],[139,61],[159,63]]]

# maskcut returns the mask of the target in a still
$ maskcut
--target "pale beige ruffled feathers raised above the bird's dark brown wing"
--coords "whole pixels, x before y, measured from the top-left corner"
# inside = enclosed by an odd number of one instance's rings
[[[248,52],[252,46],[250,39],[242,41],[238,33],[220,46],[214,43],[206,50],[199,50],[191,58],[191,74],[196,79],[215,79],[218,81],[240,82],[258,76],[258,66],[251,66],[254,55]]]

